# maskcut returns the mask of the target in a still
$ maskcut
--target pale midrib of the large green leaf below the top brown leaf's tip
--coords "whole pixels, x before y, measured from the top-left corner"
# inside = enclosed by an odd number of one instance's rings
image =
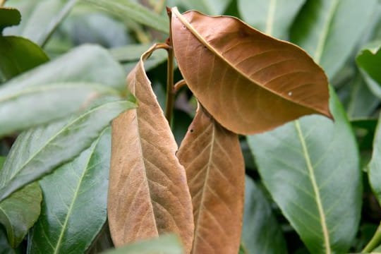
[[[313,185],[313,191],[314,191],[315,196],[316,196],[315,202],[317,205],[317,210],[319,212],[320,224],[322,226],[322,234],[323,234],[323,238],[324,238],[325,253],[330,254],[331,253],[331,248],[330,248],[331,245],[329,242],[329,231],[327,228],[327,222],[325,219],[325,212],[324,212],[324,208],[322,205],[322,200],[320,198],[319,187],[317,186],[317,181],[315,179],[315,171],[314,171],[314,168],[313,168],[312,163],[311,163],[310,154],[308,152],[308,147],[306,145],[306,141],[304,140],[303,131],[301,130],[301,124],[299,123],[299,121],[294,121],[294,124],[295,124],[296,131],[298,133],[298,138],[299,138],[301,145],[302,145],[303,156],[304,156],[304,159],[306,160],[307,169],[308,169],[308,176],[310,176],[310,181],[311,181],[311,184]]]

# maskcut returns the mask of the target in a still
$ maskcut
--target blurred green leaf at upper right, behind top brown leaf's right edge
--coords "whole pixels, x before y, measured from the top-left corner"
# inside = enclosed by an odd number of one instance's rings
[[[291,28],[291,41],[332,79],[361,40],[376,6],[377,0],[306,1]]]

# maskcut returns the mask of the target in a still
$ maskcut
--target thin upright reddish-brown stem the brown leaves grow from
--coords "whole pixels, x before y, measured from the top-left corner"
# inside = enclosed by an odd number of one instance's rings
[[[165,118],[169,124],[171,124],[172,111],[174,111],[174,48],[172,47],[171,9],[167,8],[167,14],[169,16],[169,39],[167,40],[169,47],[167,49],[167,99],[165,102]]]

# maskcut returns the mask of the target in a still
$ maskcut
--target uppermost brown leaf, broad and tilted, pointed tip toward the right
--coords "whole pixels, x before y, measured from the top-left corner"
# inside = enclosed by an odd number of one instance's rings
[[[303,49],[237,18],[171,11],[181,73],[225,128],[253,134],[306,114],[332,118],[327,77]]]

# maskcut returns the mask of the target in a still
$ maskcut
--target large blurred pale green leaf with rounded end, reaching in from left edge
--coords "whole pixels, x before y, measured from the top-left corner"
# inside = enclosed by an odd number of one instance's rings
[[[99,95],[125,89],[124,80],[105,49],[78,47],[0,87],[0,136],[68,116]]]

